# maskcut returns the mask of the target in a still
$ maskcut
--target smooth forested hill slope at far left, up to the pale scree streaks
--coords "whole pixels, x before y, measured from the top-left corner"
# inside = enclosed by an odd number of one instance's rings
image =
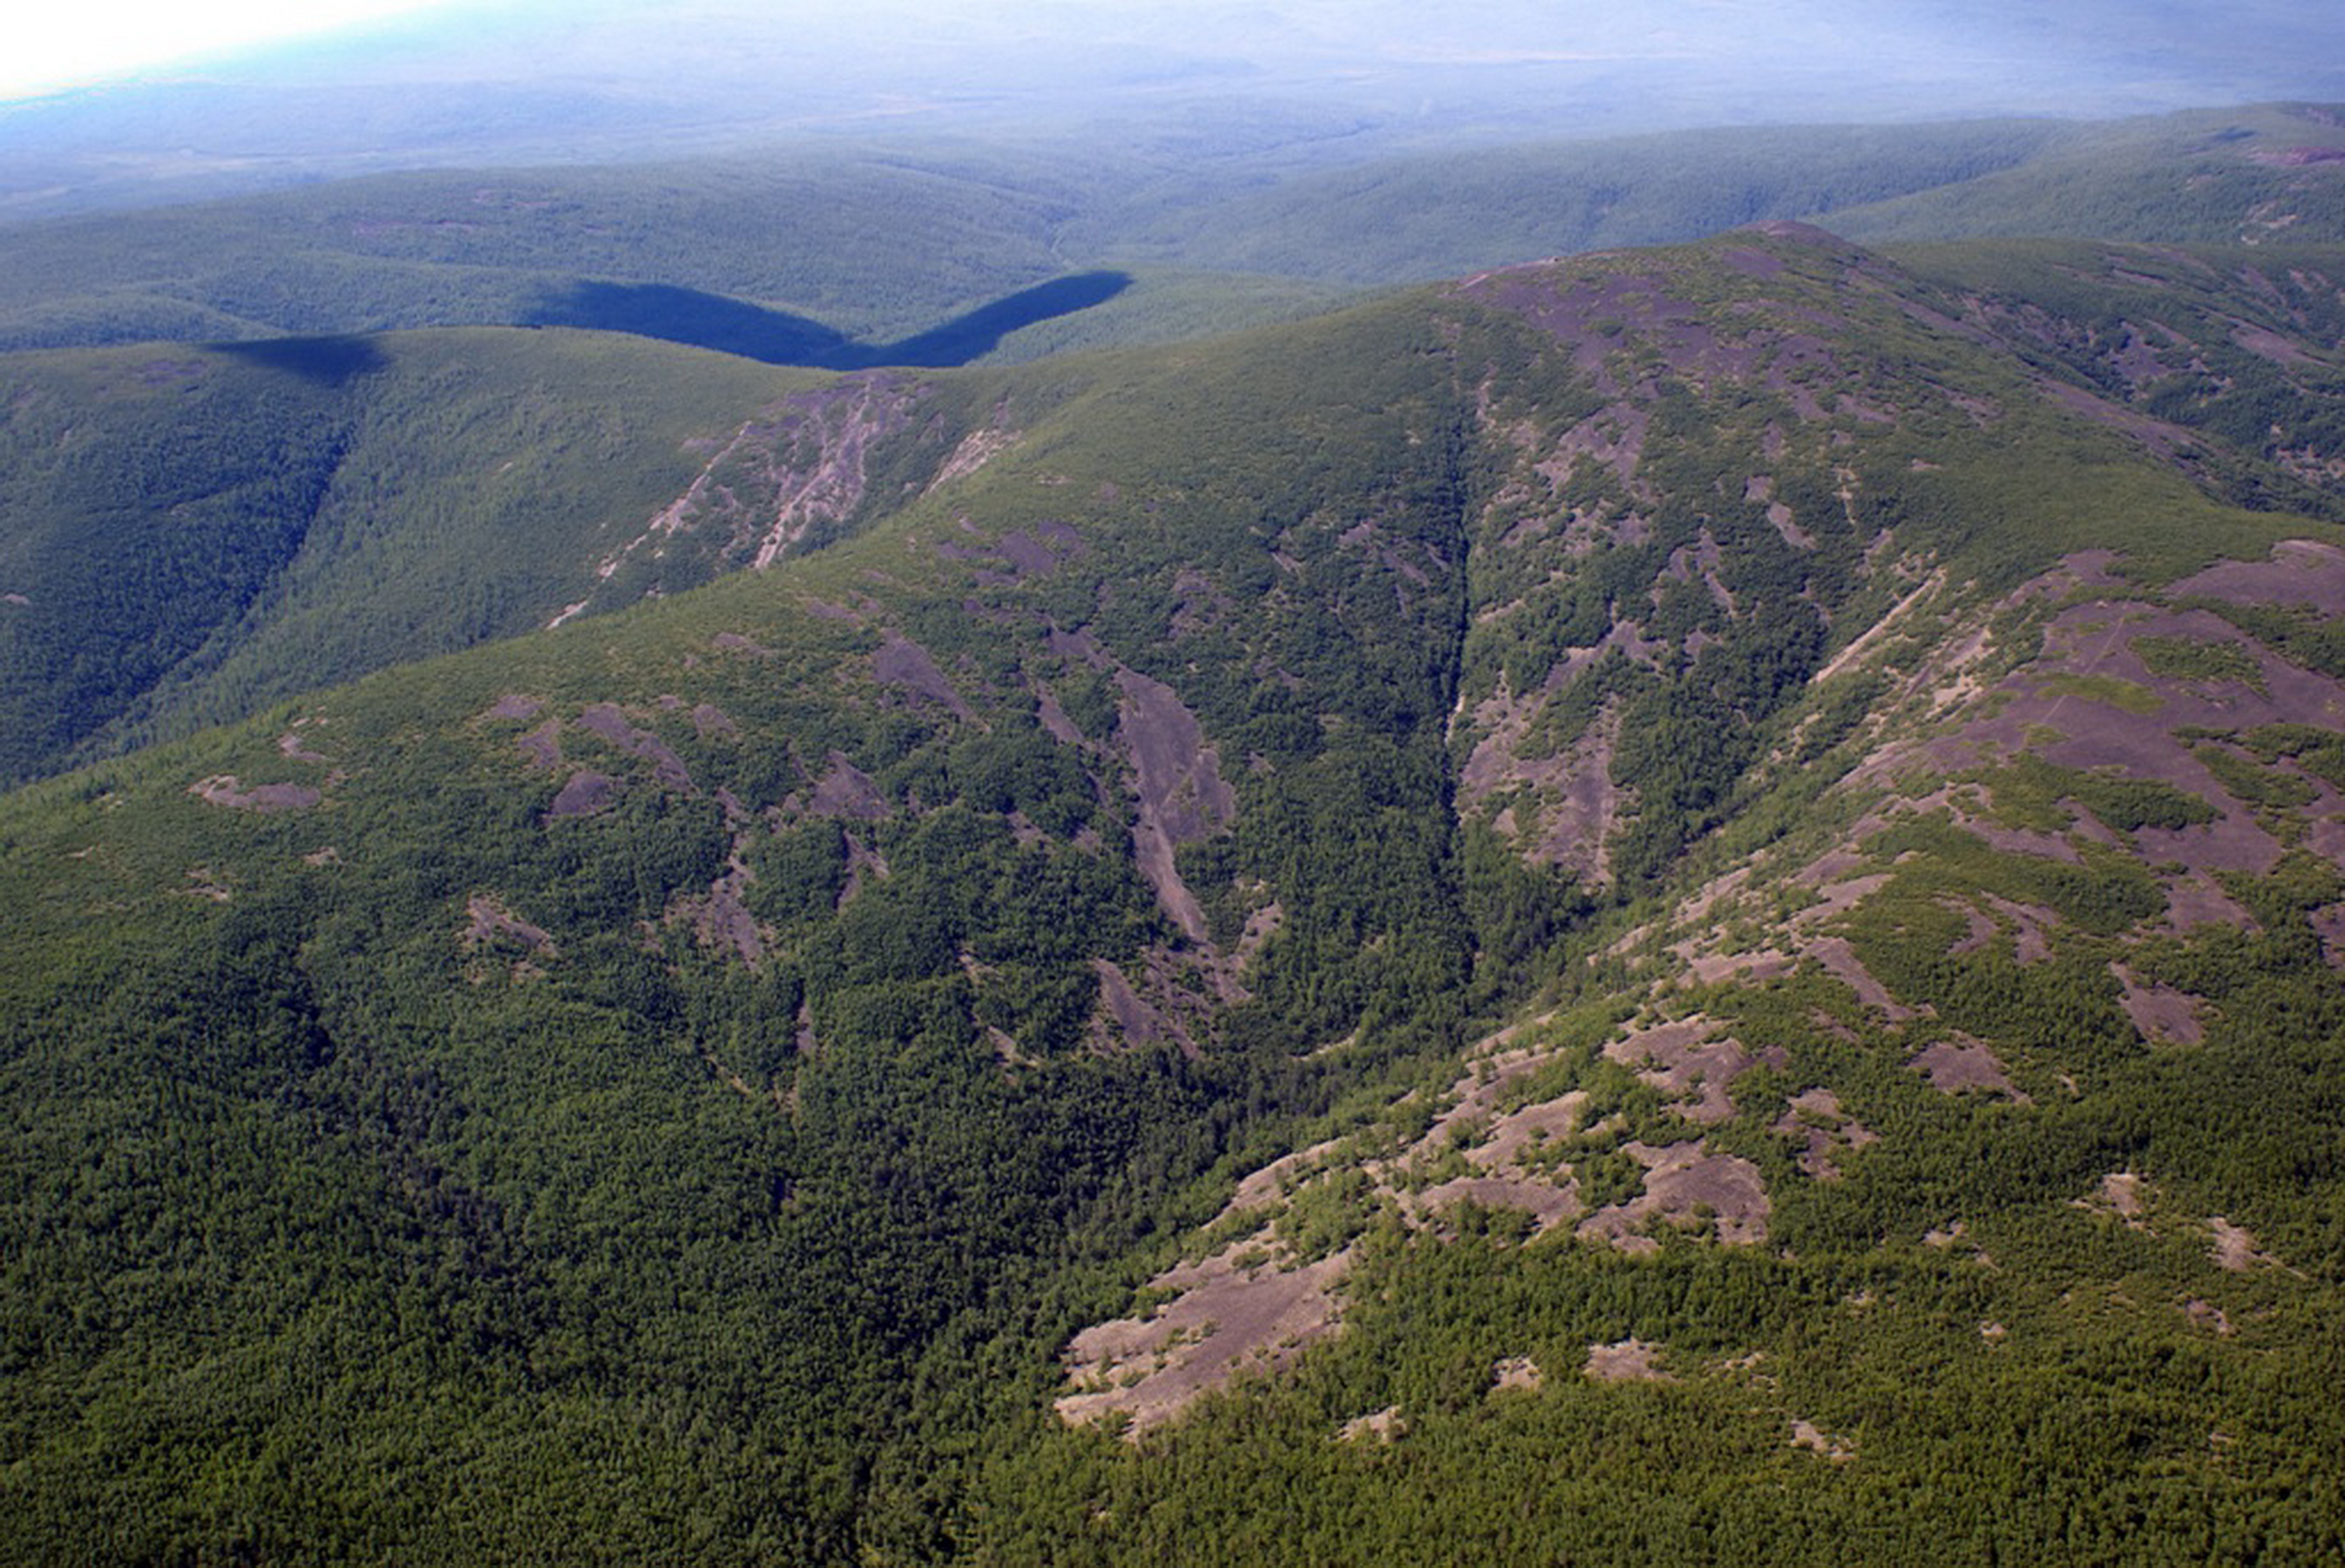
[[[584,333],[0,361],[0,780],[544,626],[795,382]]]

